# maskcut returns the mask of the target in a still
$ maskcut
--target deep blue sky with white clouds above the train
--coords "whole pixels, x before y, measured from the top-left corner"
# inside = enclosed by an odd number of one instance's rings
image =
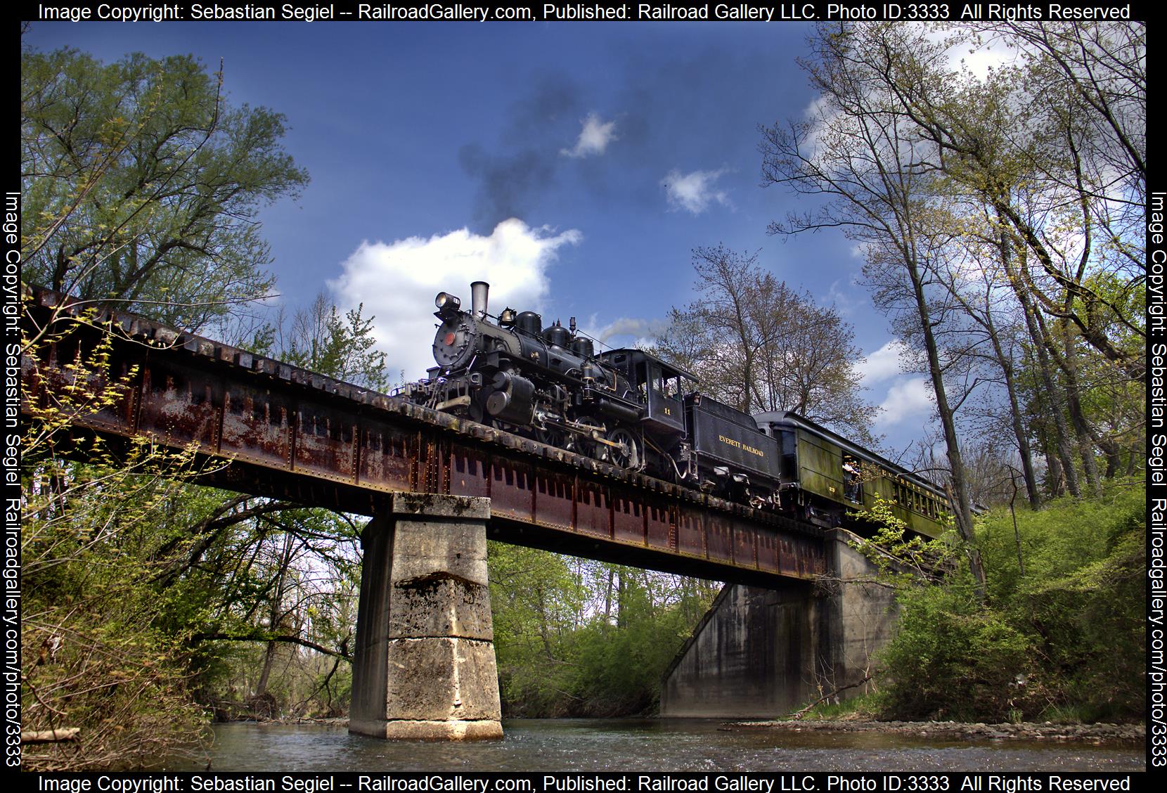
[[[609,345],[651,335],[693,299],[691,251],[759,252],[834,304],[866,353],[887,448],[923,434],[923,379],[893,336],[841,232],[783,241],[797,201],[760,187],[759,125],[815,96],[798,23],[40,22],[37,49],[194,54],[224,65],[233,104],[287,117],[312,183],[264,211],[279,302],[363,302],[393,371],[432,365],[433,295],[569,316]],[[802,199],[805,201],[805,199]],[[619,331],[626,331],[620,334]],[[889,346],[890,345],[890,346]]]

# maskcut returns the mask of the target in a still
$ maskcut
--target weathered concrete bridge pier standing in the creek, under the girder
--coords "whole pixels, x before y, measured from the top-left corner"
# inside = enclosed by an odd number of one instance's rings
[[[349,732],[501,738],[489,498],[394,493],[362,533]]]

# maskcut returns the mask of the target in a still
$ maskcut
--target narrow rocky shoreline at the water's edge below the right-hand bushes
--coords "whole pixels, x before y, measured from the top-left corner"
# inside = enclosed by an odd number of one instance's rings
[[[1083,743],[1145,743],[1145,724],[985,724],[963,722],[875,722],[875,721],[782,721],[728,722],[727,729],[770,730],[775,732],[883,732],[921,738],[964,741],[1058,741]]]

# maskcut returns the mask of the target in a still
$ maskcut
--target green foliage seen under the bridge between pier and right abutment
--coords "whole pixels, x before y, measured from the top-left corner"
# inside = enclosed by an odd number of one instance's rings
[[[654,713],[664,671],[715,595],[708,582],[491,543],[504,715]]]

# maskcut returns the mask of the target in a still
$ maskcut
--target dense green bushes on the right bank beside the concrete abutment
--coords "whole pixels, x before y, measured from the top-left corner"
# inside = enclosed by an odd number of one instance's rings
[[[900,589],[885,715],[1140,717],[1144,503],[1141,483],[1117,482],[1097,499],[1019,513],[1015,533],[1008,510],[984,515],[987,602],[963,570]]]

